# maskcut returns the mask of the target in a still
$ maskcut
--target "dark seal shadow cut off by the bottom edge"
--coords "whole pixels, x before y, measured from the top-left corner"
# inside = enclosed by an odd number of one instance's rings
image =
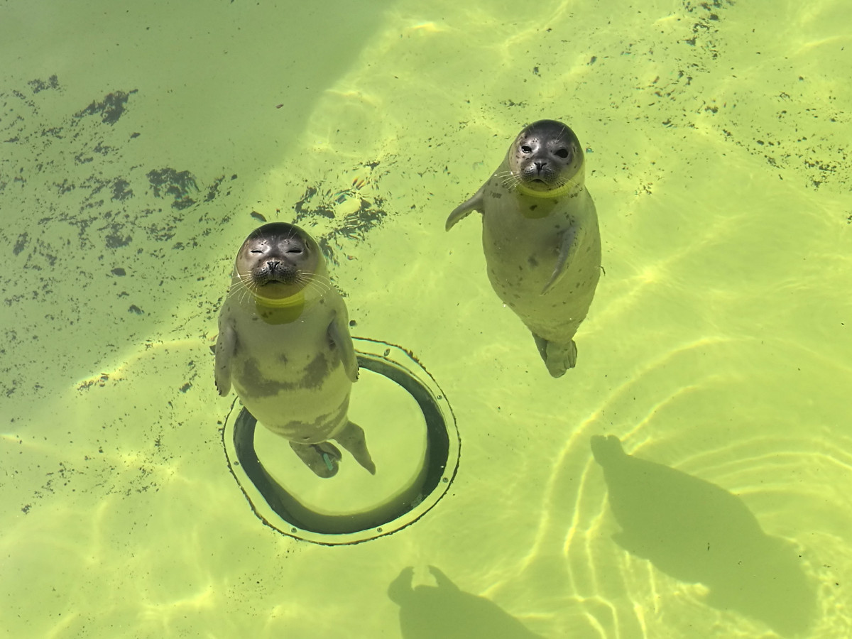
[[[388,588],[400,607],[404,639],[544,639],[485,597],[458,590],[434,566],[429,572],[436,586],[412,588],[413,567],[402,569]]]

